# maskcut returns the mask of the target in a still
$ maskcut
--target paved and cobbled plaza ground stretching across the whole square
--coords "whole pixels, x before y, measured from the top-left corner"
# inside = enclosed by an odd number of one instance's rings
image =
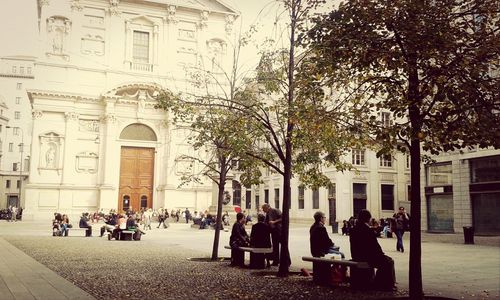
[[[153,228],[140,242],[108,241],[81,237],[52,237],[50,221],[8,223],[0,221],[0,299],[360,299],[388,296],[352,292],[348,288],[317,287],[311,278],[275,278],[269,270],[251,271],[228,267],[228,262],[202,263],[188,257],[208,257],[213,230],[197,230],[185,223],[168,229]],[[250,231],[250,227],[247,227]],[[71,235],[71,234],[70,234]],[[78,235],[78,236],[77,236]],[[219,256],[229,257],[230,232],[221,232]],[[349,238],[330,234],[350,257]],[[395,260],[399,291],[408,290],[409,236],[405,252],[395,249],[396,239],[379,239]],[[475,237],[463,244],[463,234],[422,236],[424,291],[456,299],[500,297],[500,237]],[[291,271],[311,269],[309,226],[290,228]],[[248,259],[248,255],[247,255]],[[273,267],[271,271],[276,272]],[[54,273],[55,272],[55,273]],[[76,285],[76,286],[75,286]],[[271,288],[272,287],[272,288]],[[268,295],[267,290],[274,290]],[[6,291],[8,291],[6,293]],[[390,296],[391,294],[389,294]]]

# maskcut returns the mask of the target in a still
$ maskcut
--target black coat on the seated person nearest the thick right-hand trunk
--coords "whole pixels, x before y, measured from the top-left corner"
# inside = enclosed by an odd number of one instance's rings
[[[377,241],[377,236],[368,225],[358,222],[349,231],[349,241],[352,260],[377,265],[384,259],[384,252]]]

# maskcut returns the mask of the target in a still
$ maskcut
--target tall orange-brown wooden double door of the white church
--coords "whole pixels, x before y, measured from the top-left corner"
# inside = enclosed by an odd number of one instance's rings
[[[154,148],[121,148],[119,211],[152,207],[154,153]]]

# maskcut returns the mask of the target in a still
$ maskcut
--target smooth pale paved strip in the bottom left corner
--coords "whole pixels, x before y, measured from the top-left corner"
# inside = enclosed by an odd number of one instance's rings
[[[0,299],[94,299],[0,237]]]

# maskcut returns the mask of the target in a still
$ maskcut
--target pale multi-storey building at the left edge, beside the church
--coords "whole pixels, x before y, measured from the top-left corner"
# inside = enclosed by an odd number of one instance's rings
[[[0,58],[0,208],[24,205],[29,173],[31,104],[35,58]]]

